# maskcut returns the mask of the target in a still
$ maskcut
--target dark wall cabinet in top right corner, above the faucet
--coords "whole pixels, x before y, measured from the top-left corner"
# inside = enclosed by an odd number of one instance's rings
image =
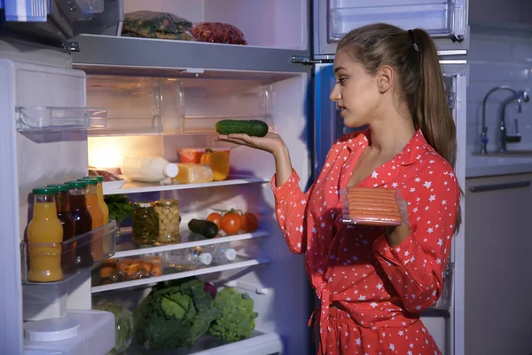
[[[470,0],[469,24],[472,27],[528,29],[532,31],[530,0]]]

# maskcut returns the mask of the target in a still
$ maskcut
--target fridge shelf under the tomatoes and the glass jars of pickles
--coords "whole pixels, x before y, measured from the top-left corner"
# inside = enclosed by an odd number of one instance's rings
[[[254,233],[242,233],[236,235],[222,235],[213,239],[205,239],[204,237],[191,233],[187,229],[181,230],[181,241],[175,244],[153,246],[147,248],[138,247],[131,241],[131,228],[126,227],[121,229],[120,237],[116,243],[116,252],[113,257],[125,256],[141,256],[150,253],[160,253],[161,251],[169,251],[183,248],[194,248],[204,245],[212,245],[218,243],[226,243],[231,241],[244,241],[247,239],[255,239],[270,236],[270,233],[265,231],[255,231]]]

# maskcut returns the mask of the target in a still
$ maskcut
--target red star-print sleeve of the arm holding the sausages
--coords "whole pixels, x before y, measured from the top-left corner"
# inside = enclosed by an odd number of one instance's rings
[[[443,277],[458,214],[459,187],[452,172],[426,181],[409,203],[410,235],[390,248],[385,235],[373,252],[408,312],[419,313],[442,295]]]

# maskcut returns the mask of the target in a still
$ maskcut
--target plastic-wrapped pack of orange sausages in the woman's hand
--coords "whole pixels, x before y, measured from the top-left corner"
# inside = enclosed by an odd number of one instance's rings
[[[349,225],[401,225],[405,213],[398,203],[400,199],[396,189],[346,187],[340,191],[342,222]]]

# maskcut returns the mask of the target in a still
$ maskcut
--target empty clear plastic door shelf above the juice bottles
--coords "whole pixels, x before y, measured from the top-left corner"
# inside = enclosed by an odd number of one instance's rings
[[[15,116],[20,132],[93,130],[107,124],[106,108],[98,107],[17,106]]]

